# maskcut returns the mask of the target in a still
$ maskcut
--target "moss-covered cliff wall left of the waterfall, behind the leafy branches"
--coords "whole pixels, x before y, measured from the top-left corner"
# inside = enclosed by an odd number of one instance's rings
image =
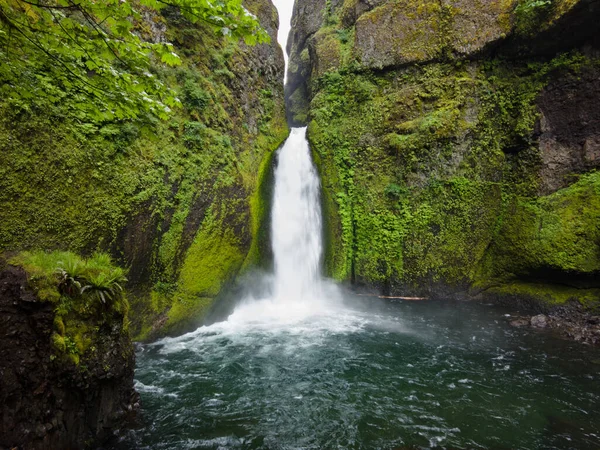
[[[109,251],[129,269],[140,340],[196,326],[264,259],[260,180],[288,132],[284,60],[272,3],[245,6],[270,44],[224,39],[174,8],[139,24],[183,61],[156,68],[182,102],[169,120],[95,122],[69,101],[0,101],[0,252]]]

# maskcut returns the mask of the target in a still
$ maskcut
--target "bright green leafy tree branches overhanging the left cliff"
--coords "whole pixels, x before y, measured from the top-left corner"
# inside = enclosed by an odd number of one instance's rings
[[[171,43],[140,31],[167,6],[222,35],[269,40],[241,0],[7,0],[0,4],[0,92],[23,109],[67,102],[85,121],[166,118],[179,100],[152,67],[181,59]]]

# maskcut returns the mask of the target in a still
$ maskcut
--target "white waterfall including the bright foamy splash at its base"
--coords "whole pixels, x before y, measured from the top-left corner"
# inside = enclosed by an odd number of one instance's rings
[[[278,326],[340,312],[335,284],[321,276],[323,236],[320,183],[305,128],[292,128],[278,150],[272,203],[274,271],[267,295],[248,295],[230,324]]]

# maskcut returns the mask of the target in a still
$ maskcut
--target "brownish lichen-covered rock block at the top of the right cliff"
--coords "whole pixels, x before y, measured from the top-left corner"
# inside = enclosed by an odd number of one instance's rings
[[[515,1],[458,0],[386,2],[356,20],[354,55],[368,68],[382,69],[471,56],[510,31]]]

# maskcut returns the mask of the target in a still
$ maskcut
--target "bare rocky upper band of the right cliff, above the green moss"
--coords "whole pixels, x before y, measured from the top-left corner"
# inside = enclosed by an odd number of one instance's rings
[[[302,5],[300,5],[302,3]],[[506,54],[555,55],[598,45],[596,0],[560,0],[551,9],[517,0],[296,2],[286,98],[291,121],[306,123],[309,78],[345,66],[388,69]],[[328,30],[329,28],[329,30]],[[349,42],[342,52],[339,43]],[[337,47],[337,48],[336,48]],[[298,117],[294,119],[294,114]]]

